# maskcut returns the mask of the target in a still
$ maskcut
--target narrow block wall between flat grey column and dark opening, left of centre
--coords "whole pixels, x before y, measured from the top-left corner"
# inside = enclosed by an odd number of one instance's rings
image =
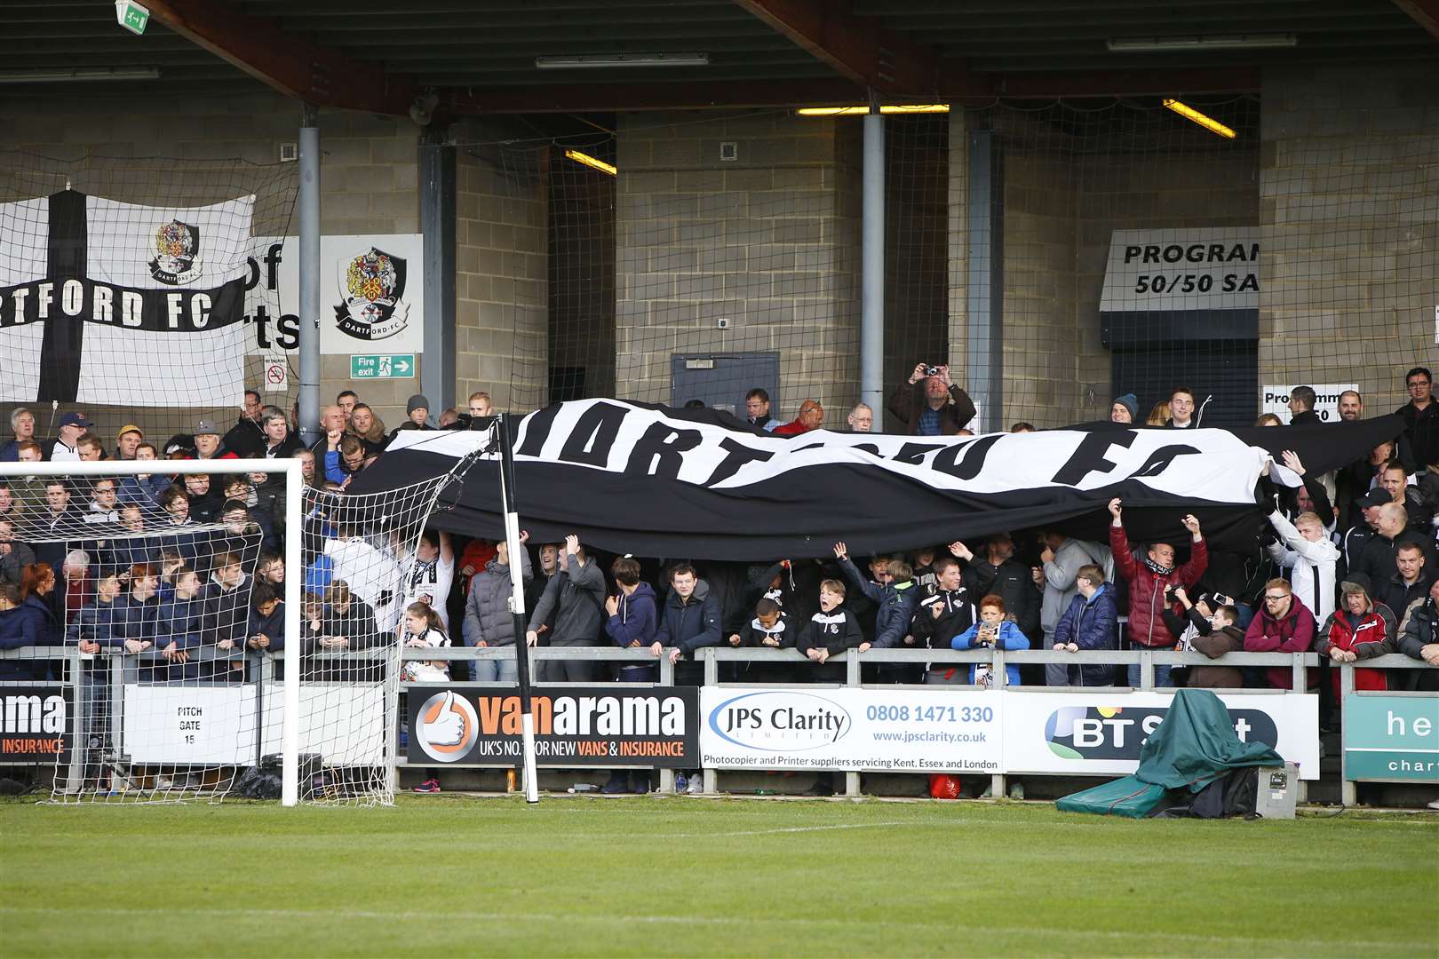
[[[459,148],[455,165],[455,397],[545,404],[550,371],[548,148]]]

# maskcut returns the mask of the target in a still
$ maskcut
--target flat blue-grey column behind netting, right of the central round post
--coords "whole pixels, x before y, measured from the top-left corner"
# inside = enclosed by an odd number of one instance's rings
[[[991,129],[970,134],[967,390],[979,427],[1004,428],[1004,177]]]

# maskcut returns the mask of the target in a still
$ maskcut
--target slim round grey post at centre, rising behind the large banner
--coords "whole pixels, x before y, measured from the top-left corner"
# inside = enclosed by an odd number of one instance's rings
[[[843,122],[843,121],[839,121]],[[859,398],[884,423],[885,410],[885,118],[871,96],[865,116],[861,221]],[[879,428],[879,427],[876,427]]]

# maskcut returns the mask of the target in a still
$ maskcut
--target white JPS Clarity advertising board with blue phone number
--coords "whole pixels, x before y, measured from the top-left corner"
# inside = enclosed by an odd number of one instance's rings
[[[960,690],[715,689],[707,769],[999,772],[1004,697]]]

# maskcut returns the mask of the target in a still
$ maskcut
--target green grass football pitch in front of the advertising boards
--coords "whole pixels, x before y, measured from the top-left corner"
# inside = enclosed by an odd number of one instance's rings
[[[1439,955],[1439,817],[0,804],[0,955]]]

